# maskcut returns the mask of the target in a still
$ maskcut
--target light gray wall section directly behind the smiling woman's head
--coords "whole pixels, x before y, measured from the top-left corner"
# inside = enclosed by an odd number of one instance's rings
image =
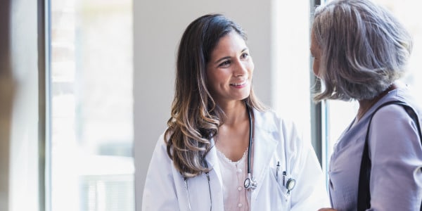
[[[136,210],[158,136],[170,117],[177,44],[191,21],[224,13],[248,34],[255,63],[253,86],[271,104],[271,1],[134,1],[134,156]]]

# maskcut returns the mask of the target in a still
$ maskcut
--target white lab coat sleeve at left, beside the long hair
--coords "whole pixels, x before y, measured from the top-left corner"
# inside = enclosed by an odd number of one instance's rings
[[[172,160],[167,155],[164,134],[158,139],[148,167],[143,188],[142,210],[179,210]]]

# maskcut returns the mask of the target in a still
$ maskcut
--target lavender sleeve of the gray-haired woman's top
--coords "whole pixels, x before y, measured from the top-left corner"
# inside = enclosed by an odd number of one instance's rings
[[[419,210],[422,150],[416,124],[397,105],[373,116],[369,135],[371,209]]]

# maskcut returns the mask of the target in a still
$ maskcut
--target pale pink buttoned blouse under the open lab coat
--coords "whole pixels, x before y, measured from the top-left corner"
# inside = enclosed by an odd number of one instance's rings
[[[248,149],[238,161],[226,158],[218,149],[217,157],[222,172],[224,211],[248,211],[250,193],[243,186],[248,177]]]

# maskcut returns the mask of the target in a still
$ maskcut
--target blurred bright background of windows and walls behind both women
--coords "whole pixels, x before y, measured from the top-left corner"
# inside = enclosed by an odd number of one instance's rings
[[[404,82],[421,90],[417,2],[376,1],[414,36]],[[205,13],[223,13],[244,28],[257,96],[298,123],[326,172],[357,104],[312,102],[309,30],[319,4],[4,0],[0,210],[141,210],[149,160],[170,117],[177,45]]]

